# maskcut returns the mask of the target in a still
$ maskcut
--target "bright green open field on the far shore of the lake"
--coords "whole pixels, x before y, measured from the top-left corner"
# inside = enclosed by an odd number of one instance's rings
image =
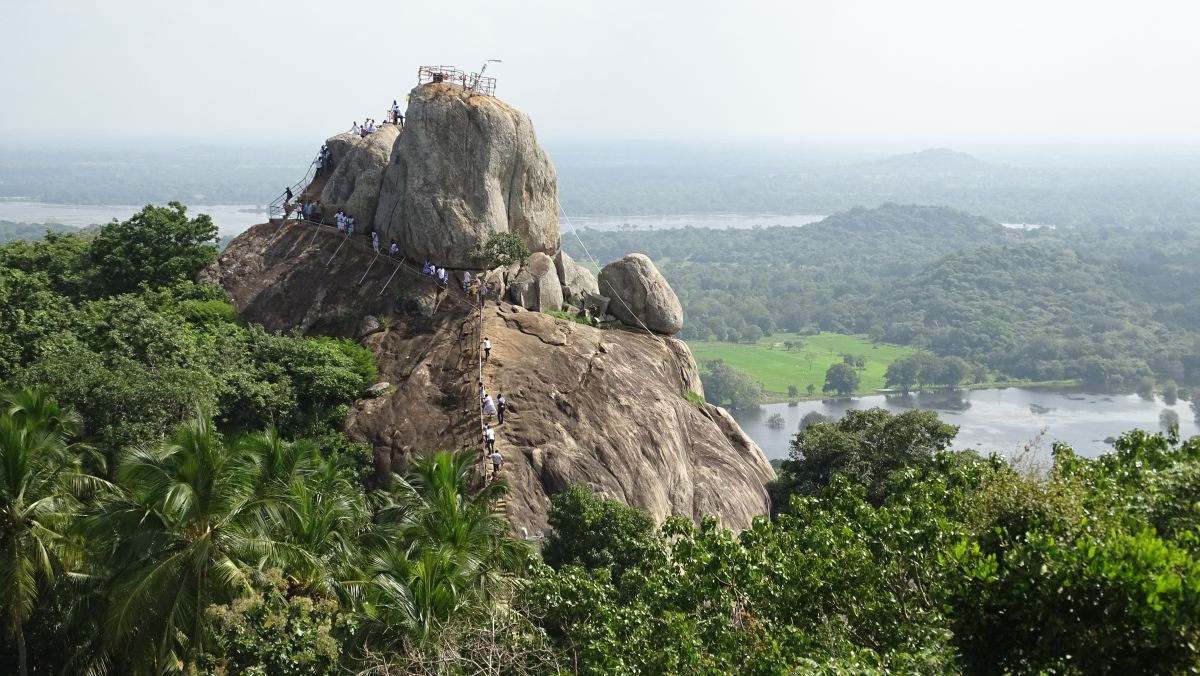
[[[787,351],[785,341],[800,341],[804,347]],[[700,364],[706,359],[724,359],[726,364],[750,373],[762,383],[767,397],[773,401],[787,399],[787,385],[796,385],[802,397],[812,383],[815,395],[824,385],[824,372],[841,361],[842,353],[860,354],[866,358],[866,369],[858,372],[859,388],[854,394],[870,394],[883,388],[883,373],[888,365],[916,351],[911,347],[880,343],[872,347],[865,335],[775,334],[756,343],[732,343],[721,341],[688,341],[688,347]]]

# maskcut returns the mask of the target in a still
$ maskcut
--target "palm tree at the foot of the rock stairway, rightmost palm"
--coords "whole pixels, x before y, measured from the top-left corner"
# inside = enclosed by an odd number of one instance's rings
[[[511,581],[506,573],[529,556],[493,512],[506,484],[470,495],[474,461],[472,451],[440,451],[416,459],[397,481],[398,507],[382,514],[390,537],[374,548],[364,604],[380,639],[430,639],[456,615],[492,603]]]

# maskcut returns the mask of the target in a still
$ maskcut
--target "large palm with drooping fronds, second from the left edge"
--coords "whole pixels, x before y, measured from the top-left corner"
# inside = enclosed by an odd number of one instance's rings
[[[204,650],[204,611],[246,594],[272,562],[264,471],[200,415],[166,442],[126,451],[122,493],[84,525],[107,552],[107,658],[131,671],[187,670]]]

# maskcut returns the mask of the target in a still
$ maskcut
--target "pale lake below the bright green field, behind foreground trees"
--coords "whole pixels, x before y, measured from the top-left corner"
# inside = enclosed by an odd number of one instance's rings
[[[1186,401],[1166,406],[1160,399],[1146,401],[1135,394],[1090,394],[1044,389],[979,389],[910,395],[871,395],[854,399],[802,401],[796,406],[770,403],[758,409],[734,411],[742,429],[768,459],[786,457],[787,444],[811,411],[840,418],[851,408],[878,406],[893,413],[911,408],[936,411],[942,420],[959,426],[954,448],[973,448],[988,454],[1013,455],[1040,436],[1039,445],[1049,451],[1055,441],[1070,444],[1076,453],[1094,457],[1111,447],[1105,437],[1116,437],[1134,427],[1158,431],[1164,408],[1180,414],[1180,436],[1200,435],[1192,407]],[[773,430],[767,418],[784,415],[784,426]]]

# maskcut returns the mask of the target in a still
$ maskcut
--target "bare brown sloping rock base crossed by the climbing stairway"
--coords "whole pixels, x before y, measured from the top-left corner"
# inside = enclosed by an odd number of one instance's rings
[[[347,421],[352,437],[373,447],[380,475],[403,472],[415,454],[480,448],[479,315],[466,295],[451,288],[426,312],[439,298],[432,280],[404,268],[389,282],[394,265],[374,265],[359,285],[370,247],[352,240],[330,262],[337,243],[310,226],[256,226],[205,276],[224,286],[242,317],[275,330],[353,336],[365,315],[388,318],[362,342],[391,388],[355,403]],[[511,402],[496,447],[514,530],[542,528],[550,496],[570,483],[659,520],[713,514],[743,528],[768,512],[763,484],[774,473],[762,451],[722,409],[685,399],[701,394],[701,383],[683,342],[494,301],[482,324],[492,341],[484,379]]]

